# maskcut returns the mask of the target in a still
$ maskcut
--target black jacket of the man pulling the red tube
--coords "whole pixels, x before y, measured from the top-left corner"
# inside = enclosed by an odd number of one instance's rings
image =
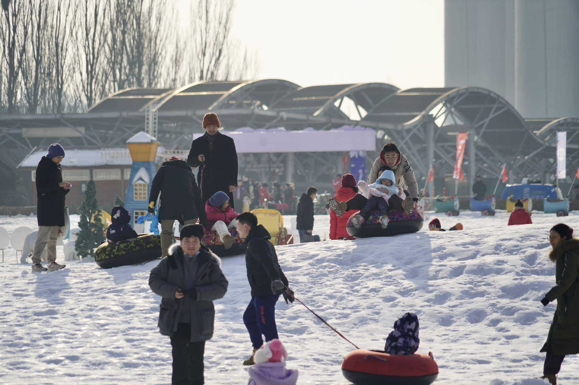
[[[245,267],[250,281],[251,296],[272,295],[272,281],[281,280],[288,286],[288,280],[277,261],[276,248],[269,241],[270,234],[262,225],[251,229],[245,243]]]

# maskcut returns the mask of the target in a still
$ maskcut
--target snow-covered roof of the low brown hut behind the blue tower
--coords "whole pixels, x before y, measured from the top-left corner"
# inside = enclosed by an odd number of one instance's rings
[[[157,148],[157,157],[162,157],[165,148]],[[36,148],[19,164],[17,168],[38,166],[38,162],[46,155],[46,148]],[[129,148],[122,147],[65,147],[63,167],[130,167],[133,164]]]

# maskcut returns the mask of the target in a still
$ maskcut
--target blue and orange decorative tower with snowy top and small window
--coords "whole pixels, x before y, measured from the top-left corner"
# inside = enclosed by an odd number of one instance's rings
[[[127,140],[127,146],[133,160],[133,166],[131,166],[124,207],[133,215],[133,228],[142,232],[140,227],[143,225],[137,224],[137,218],[146,215],[147,212],[151,183],[157,172],[155,157],[159,142],[156,138],[141,131]]]

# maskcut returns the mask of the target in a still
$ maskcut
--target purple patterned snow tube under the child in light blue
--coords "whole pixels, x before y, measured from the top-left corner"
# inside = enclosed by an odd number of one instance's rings
[[[358,212],[359,211],[356,211],[350,216],[350,218],[358,214]],[[422,215],[420,215],[416,210],[412,211],[410,215],[404,214],[404,211],[402,210],[390,211],[388,217],[390,218],[388,227],[383,229],[382,225],[378,222],[378,219],[380,219],[380,213],[378,210],[373,210],[370,212],[368,220],[362,223],[360,229],[355,228],[350,219],[348,219],[348,222],[346,223],[346,231],[350,236],[357,238],[388,237],[398,234],[419,232],[424,224]]]

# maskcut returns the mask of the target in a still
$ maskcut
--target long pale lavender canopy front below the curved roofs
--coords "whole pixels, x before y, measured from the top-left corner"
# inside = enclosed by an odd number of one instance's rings
[[[374,151],[376,132],[361,126],[342,126],[332,130],[288,131],[283,127],[262,130],[241,127],[234,131],[220,131],[232,137],[238,153],[263,152],[338,152]],[[203,134],[193,134],[193,139]]]

